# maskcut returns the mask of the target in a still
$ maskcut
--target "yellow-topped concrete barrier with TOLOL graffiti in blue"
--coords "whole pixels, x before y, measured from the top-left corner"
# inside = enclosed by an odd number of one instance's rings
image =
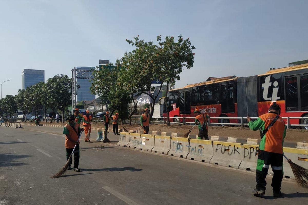
[[[211,140],[189,140],[189,153],[187,159],[207,162],[213,157],[213,141]]]

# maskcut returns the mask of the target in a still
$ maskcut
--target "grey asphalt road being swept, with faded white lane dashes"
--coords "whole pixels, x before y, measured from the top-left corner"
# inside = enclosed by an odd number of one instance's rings
[[[114,143],[81,140],[81,172],[68,170],[51,179],[66,162],[61,132],[62,128],[0,127],[0,205],[307,203],[308,189],[290,179],[283,180],[281,198],[272,196],[270,177],[265,195],[255,197],[253,172]]]

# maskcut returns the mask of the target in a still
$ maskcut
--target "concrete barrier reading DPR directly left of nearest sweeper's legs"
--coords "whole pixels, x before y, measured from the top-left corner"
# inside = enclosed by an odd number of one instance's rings
[[[241,150],[242,162],[239,168],[247,171],[256,171],[259,155],[259,145],[243,144]]]

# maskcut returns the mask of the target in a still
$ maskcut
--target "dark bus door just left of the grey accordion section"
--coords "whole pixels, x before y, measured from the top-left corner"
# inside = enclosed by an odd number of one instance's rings
[[[221,112],[234,113],[234,85],[221,85]]]

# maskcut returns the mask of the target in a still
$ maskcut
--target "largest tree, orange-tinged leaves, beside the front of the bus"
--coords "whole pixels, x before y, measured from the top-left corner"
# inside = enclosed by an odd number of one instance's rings
[[[119,60],[119,66],[126,68],[129,73],[129,83],[132,84],[139,93],[145,93],[152,98],[151,114],[153,116],[154,105],[164,83],[167,83],[166,96],[168,96],[169,85],[174,85],[176,80],[180,80],[180,73],[183,67],[193,66],[195,49],[191,46],[189,38],[183,40],[180,35],[178,41],[173,37],[165,37],[161,41],[161,36],[157,36],[158,45],[152,41],[145,42],[139,40],[139,36],[132,40],[126,40],[129,44],[136,46],[131,52],[126,52]],[[148,91],[154,90],[152,81],[160,81],[158,92],[153,95]],[[169,125],[169,113],[167,124]]]

